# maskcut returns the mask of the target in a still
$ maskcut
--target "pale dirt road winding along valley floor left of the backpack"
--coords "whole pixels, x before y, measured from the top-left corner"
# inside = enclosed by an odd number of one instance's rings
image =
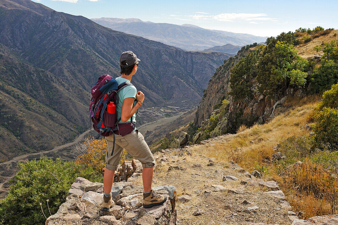
[[[59,146],[57,146],[57,147],[55,147],[55,148],[53,148],[51,150],[48,150],[48,151],[41,151],[41,152],[37,152],[37,153],[30,153],[30,154],[25,154],[25,155],[21,155],[21,156],[15,157],[14,159],[11,159],[9,161],[0,163],[0,167],[1,168],[9,168],[12,163],[16,163],[18,161],[24,162],[26,159],[31,158],[31,156],[34,156],[34,155],[35,156],[38,156],[38,155],[41,156],[41,155],[46,154],[46,153],[57,152],[57,151],[59,151],[61,149],[70,147],[73,144],[76,144],[76,143],[80,142],[84,138],[84,136],[90,132],[90,130],[91,129],[83,132],[77,138],[75,138],[72,142],[69,142],[69,143],[66,143],[66,144],[63,144],[63,145],[59,145]],[[8,192],[8,188],[4,188],[3,185],[10,178],[12,178],[16,173],[17,173],[17,170],[13,170],[12,173],[11,173],[11,176],[1,176],[2,179],[1,179],[1,183],[0,183],[0,193],[1,192]]]

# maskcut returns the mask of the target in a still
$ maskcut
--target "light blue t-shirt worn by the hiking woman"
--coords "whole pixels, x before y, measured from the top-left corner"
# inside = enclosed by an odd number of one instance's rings
[[[117,77],[115,78],[115,80],[117,81],[118,85],[122,84],[123,82],[129,81],[126,78],[122,78],[122,77]],[[118,96],[119,96],[119,104],[116,107],[116,112],[117,112],[117,118],[121,117],[121,112],[122,112],[122,105],[123,105],[123,100],[125,98],[130,98],[130,97],[134,97],[136,99],[136,87],[134,85],[128,85],[124,88],[122,88],[119,92],[118,92]],[[134,102],[133,106],[136,104],[136,102]],[[122,122],[122,120],[120,120],[119,122]],[[126,122],[130,122],[130,118],[126,121]],[[134,115],[132,115],[132,122],[136,122],[136,116],[135,113]]]

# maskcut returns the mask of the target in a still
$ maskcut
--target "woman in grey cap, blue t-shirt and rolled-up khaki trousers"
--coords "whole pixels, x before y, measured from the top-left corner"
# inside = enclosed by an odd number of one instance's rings
[[[118,84],[130,82],[131,77],[136,73],[140,60],[132,51],[125,51],[120,57],[121,76],[116,78]],[[113,206],[112,199],[112,185],[114,181],[114,174],[117,165],[120,163],[122,151],[125,149],[132,157],[138,159],[142,163],[142,180],[143,180],[143,207],[150,208],[155,205],[162,205],[167,197],[165,195],[158,195],[151,188],[153,167],[155,159],[150,152],[148,144],[144,137],[138,132],[135,126],[136,118],[135,112],[142,106],[144,101],[144,94],[136,90],[134,85],[129,85],[122,88],[118,92],[119,104],[116,106],[117,118],[121,117],[118,123],[119,129],[130,126],[135,127],[131,133],[124,136],[120,135],[119,130],[115,132],[115,146],[113,135],[106,137],[107,154],[106,166],[103,176],[104,196],[102,210],[108,211]],[[135,102],[136,99],[136,103]],[[114,147],[113,155],[111,155]]]

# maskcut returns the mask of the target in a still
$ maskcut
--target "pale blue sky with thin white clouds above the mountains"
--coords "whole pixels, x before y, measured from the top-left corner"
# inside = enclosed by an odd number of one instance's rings
[[[337,0],[33,0],[89,19],[138,18],[207,29],[277,36],[299,27],[338,29]]]

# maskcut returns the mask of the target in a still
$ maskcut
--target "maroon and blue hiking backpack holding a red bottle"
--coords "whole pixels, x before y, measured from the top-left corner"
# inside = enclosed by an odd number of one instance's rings
[[[118,85],[115,78],[106,74],[100,76],[96,84],[92,87],[92,99],[89,103],[89,118],[93,122],[93,129],[99,133],[96,139],[98,139],[100,135],[104,137],[110,136],[112,133],[114,134],[113,131],[118,130],[117,123],[121,118],[117,118],[116,111],[114,114],[108,113],[106,107],[110,102],[114,102],[117,107],[119,104],[117,92],[129,85],[132,84],[128,81]]]

